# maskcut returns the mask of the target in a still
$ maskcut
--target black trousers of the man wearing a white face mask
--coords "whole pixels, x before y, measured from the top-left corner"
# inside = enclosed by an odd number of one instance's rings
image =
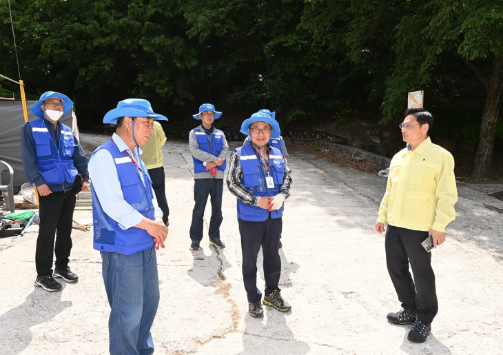
[[[52,255],[56,254],[56,268],[68,266],[72,250],[72,219],[75,208],[75,187],[67,192],[39,195],[40,226],[35,252],[35,267],[39,276],[52,276]],[[54,234],[56,246],[54,246]]]

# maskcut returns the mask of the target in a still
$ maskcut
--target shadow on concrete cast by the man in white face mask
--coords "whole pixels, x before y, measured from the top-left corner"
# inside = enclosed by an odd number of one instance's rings
[[[72,307],[72,301],[61,301],[63,290],[47,292],[35,287],[21,305],[0,316],[0,354],[20,354],[32,341],[30,327],[50,321]]]

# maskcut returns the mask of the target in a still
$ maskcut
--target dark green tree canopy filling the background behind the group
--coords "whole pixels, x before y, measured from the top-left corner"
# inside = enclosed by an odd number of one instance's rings
[[[10,4],[25,90],[65,92],[87,128],[127,97],[149,99],[170,123],[203,102],[236,117],[271,108],[282,125],[343,109],[396,123],[407,92],[424,90],[433,133],[478,147],[476,176],[490,174],[503,139],[499,0]],[[8,11],[0,0],[0,73],[17,79]]]

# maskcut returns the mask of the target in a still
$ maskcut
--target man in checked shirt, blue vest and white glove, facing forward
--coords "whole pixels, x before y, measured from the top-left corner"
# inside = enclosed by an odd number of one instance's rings
[[[238,224],[243,252],[243,281],[251,316],[263,316],[262,294],[256,286],[257,256],[264,256],[265,296],[263,303],[282,312],[291,310],[278,286],[281,274],[279,243],[283,222],[283,202],[290,194],[291,170],[280,150],[269,140],[279,136],[278,123],[257,112],[243,122],[241,133],[250,137],[231,154],[227,186],[238,199]]]

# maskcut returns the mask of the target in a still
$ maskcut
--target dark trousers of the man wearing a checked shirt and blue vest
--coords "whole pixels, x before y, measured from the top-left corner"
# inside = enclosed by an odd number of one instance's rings
[[[249,222],[238,219],[241,234],[241,252],[243,252],[243,281],[248,301],[260,302],[262,294],[257,288],[257,256],[260,246],[264,255],[265,294],[280,291],[278,284],[281,275],[279,254],[283,221],[271,219],[271,214],[263,222]]]

